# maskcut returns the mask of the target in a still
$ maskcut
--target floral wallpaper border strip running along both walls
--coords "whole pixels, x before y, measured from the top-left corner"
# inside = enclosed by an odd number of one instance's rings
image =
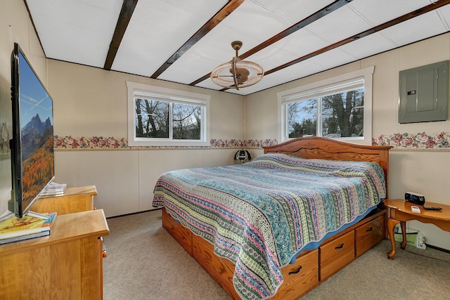
[[[129,147],[127,138],[114,138],[103,136],[79,137],[55,136],[56,150],[158,150],[158,149],[215,149],[215,148],[261,148],[276,145],[276,139],[264,140],[222,140],[213,138],[210,146],[204,147]],[[434,135],[422,133],[394,133],[384,134],[372,139],[372,145],[390,145],[392,150],[399,151],[449,151],[450,133],[437,133]]]

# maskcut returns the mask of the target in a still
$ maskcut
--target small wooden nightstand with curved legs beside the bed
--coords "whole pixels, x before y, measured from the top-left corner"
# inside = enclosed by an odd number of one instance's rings
[[[389,259],[394,259],[395,255],[395,240],[394,227],[400,223],[401,233],[403,235],[403,242],[401,242],[401,249],[406,247],[406,221],[417,220],[423,223],[432,223],[435,226],[450,232],[450,205],[425,202],[425,206],[442,207],[440,211],[426,210],[422,205],[412,204],[406,202],[404,199],[387,199],[385,200],[387,211],[389,211],[389,218],[387,219],[387,233],[391,241],[392,250],[387,252]],[[412,206],[417,206],[420,213],[411,211]]]

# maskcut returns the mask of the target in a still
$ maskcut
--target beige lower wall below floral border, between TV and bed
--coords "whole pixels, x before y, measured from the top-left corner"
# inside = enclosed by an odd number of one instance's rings
[[[160,174],[174,169],[233,164],[236,149],[56,152],[56,180],[70,186],[95,184],[95,205],[107,216],[153,209]]]

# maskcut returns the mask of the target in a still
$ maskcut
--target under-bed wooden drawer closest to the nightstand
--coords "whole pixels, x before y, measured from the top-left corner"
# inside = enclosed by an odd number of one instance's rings
[[[355,229],[356,257],[381,242],[385,232],[385,216],[377,216]]]

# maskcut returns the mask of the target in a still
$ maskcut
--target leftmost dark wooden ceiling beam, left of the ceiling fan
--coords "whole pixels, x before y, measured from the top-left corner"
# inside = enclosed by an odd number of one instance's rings
[[[108,50],[103,69],[108,71],[111,70],[115,56],[117,54],[117,50],[119,49],[125,31],[127,30],[129,20],[131,20],[131,15],[133,15],[134,8],[136,8],[137,4],[138,0],[124,0],[122,9],[120,10],[119,18],[117,18],[117,24],[115,25],[113,39],[111,39],[110,48]]]

